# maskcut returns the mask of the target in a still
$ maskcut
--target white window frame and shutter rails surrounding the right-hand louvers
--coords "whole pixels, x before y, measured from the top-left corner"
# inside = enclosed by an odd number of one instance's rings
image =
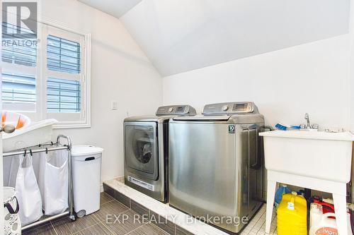
[[[70,28],[67,25],[59,23],[50,18],[40,17],[38,23],[38,42],[37,47],[37,66],[29,68],[27,66],[13,66],[2,62],[3,72],[13,73],[21,68],[22,71],[35,72],[36,76],[36,104],[35,112],[21,113],[28,115],[30,119],[63,119],[66,116],[68,121],[59,121],[53,128],[89,128],[91,127],[91,34]],[[67,40],[73,40],[80,43],[81,50],[81,70],[79,74],[64,73],[59,71],[50,71],[47,68],[47,36],[55,35]],[[73,38],[74,37],[74,38]],[[75,38],[76,37],[76,38]],[[78,40],[81,39],[81,40]],[[81,87],[81,112],[80,113],[48,113],[47,112],[47,79],[61,78],[67,80],[79,80]],[[75,121],[69,121],[73,120]],[[79,121],[76,121],[79,120]]]

